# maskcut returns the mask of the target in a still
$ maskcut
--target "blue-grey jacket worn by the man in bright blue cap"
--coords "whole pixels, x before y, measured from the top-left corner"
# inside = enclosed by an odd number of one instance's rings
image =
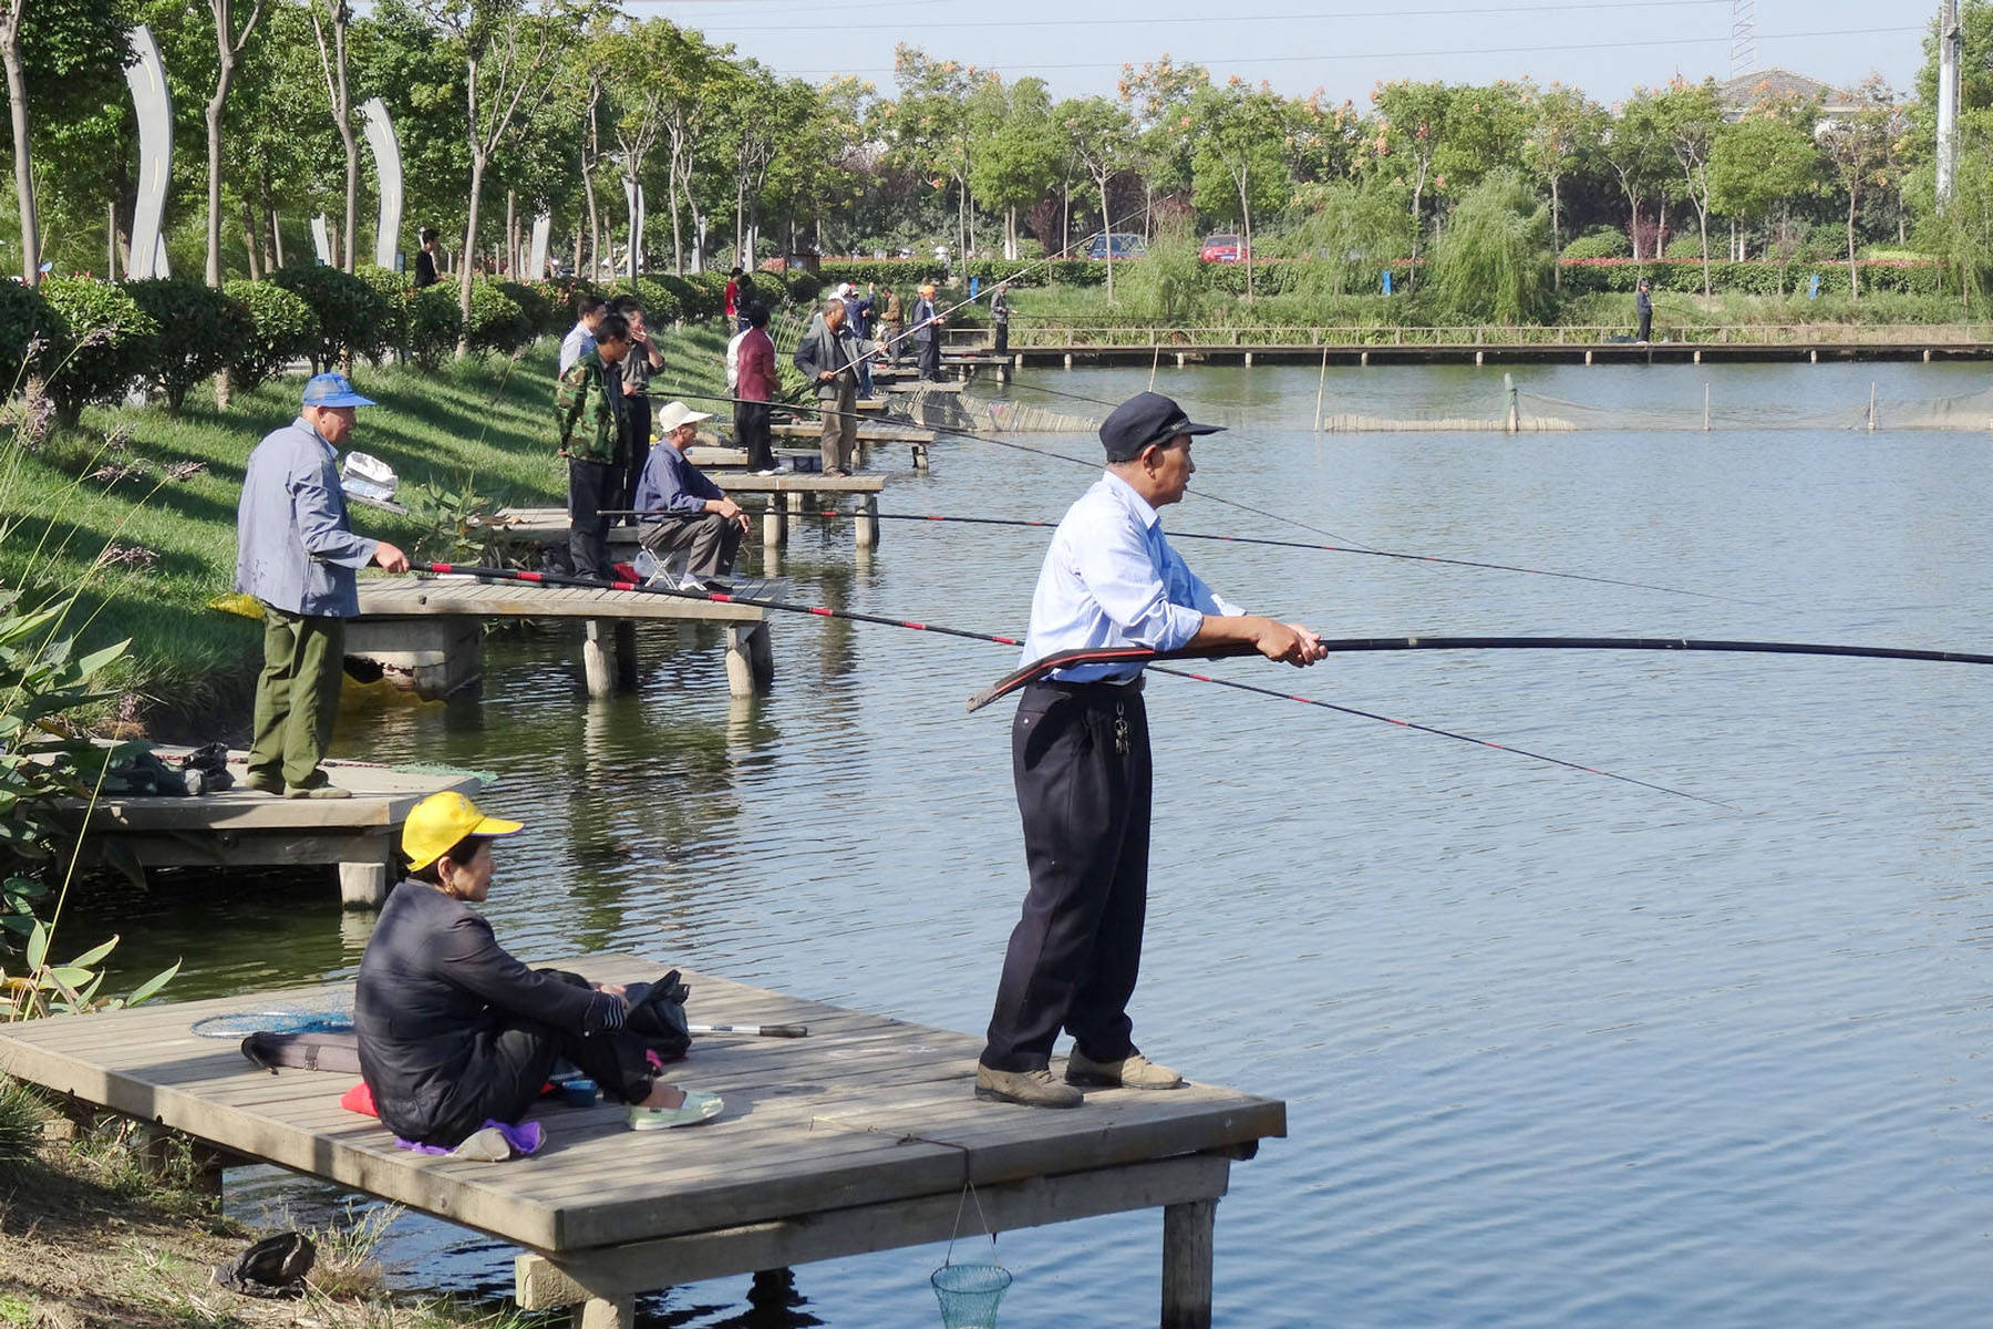
[[[285,614],[361,612],[355,574],[377,542],[353,534],[335,456],[305,416],[255,444],[235,508],[235,590]]]

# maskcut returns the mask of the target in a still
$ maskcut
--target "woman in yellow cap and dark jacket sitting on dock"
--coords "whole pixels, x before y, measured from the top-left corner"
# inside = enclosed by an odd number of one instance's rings
[[[624,1032],[622,988],[526,968],[472,909],[490,891],[492,839],[518,829],[460,793],[423,799],[401,829],[409,881],[367,942],[353,1010],[381,1122],[403,1140],[456,1148],[518,1122],[556,1058],[630,1104],[632,1130],[719,1116],[715,1094],[654,1078],[644,1040]]]

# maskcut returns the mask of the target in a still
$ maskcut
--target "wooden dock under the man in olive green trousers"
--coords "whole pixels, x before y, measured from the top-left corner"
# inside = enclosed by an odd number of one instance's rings
[[[163,759],[183,747],[155,745]],[[395,841],[409,811],[432,793],[476,793],[470,775],[417,775],[373,763],[327,761],[327,775],[351,799],[281,799],[243,781],[245,753],[229,753],[233,789],[185,797],[62,799],[56,817],[80,835],[84,855],[102,859],[108,845],[140,867],[339,867],[339,899],[351,909],[379,909],[395,867]]]

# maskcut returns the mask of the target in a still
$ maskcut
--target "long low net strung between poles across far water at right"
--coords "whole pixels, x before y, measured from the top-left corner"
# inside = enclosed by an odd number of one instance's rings
[[[1411,414],[1329,412],[1327,432],[1734,432],[1734,430],[1993,430],[1993,389],[1957,397],[1879,397],[1806,408],[1766,400],[1720,402],[1704,387],[1700,400],[1592,404],[1527,393],[1489,395],[1485,410],[1449,408]]]

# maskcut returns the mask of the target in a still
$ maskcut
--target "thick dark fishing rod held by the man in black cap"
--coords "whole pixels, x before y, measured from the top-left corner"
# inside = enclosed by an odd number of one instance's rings
[[[1698,638],[1321,638],[1331,656],[1355,652],[1732,652],[1750,656],[1844,656],[1855,660],[1923,660],[1935,664],[1993,664],[1993,656],[1975,652],[1933,652],[1901,646],[1836,646],[1822,642],[1716,642]],[[1034,660],[969,697],[969,709],[979,711],[991,701],[1032,683],[1054,669],[1094,664],[1148,664],[1152,660],[1214,660],[1222,656],[1258,656],[1248,642],[1152,652],[1146,646],[1108,646],[1058,652]],[[1285,693],[1276,693],[1285,695]]]

